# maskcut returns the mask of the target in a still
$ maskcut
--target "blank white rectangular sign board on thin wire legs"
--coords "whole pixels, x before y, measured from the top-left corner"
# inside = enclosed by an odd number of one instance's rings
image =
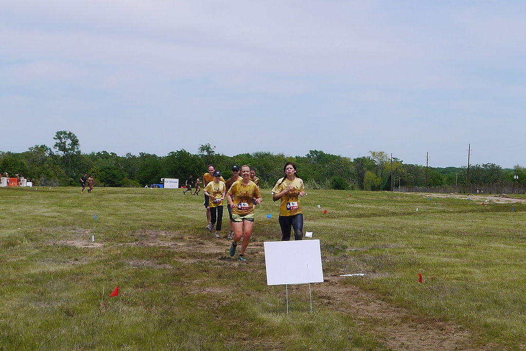
[[[320,240],[265,243],[267,285],[322,283]]]

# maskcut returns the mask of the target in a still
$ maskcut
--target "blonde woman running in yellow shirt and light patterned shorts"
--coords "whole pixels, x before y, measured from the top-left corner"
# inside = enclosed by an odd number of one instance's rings
[[[234,225],[234,241],[230,246],[229,254],[233,257],[236,254],[237,244],[241,243],[239,260],[246,261],[245,250],[250,242],[252,229],[254,229],[254,204],[260,204],[263,200],[259,193],[258,186],[250,180],[250,167],[241,167],[241,179],[234,182],[227,192],[227,200],[232,207],[232,225]]]

